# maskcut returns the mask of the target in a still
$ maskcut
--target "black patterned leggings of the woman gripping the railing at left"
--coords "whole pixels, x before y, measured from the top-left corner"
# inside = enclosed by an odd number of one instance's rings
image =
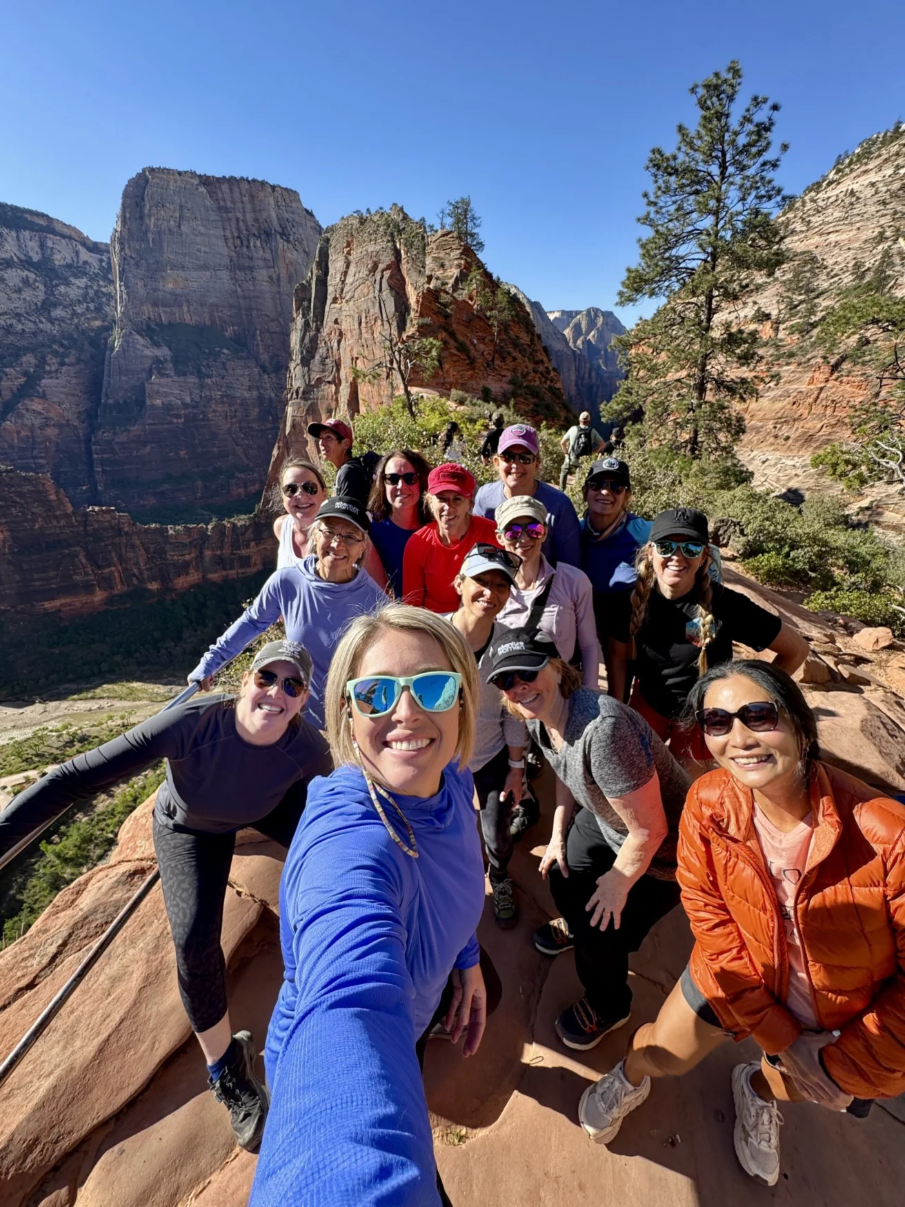
[[[288,847],[305,807],[298,787],[252,829]],[[220,945],[235,832],[205,834],[153,822],[163,900],[176,947],[182,1005],[193,1031],[208,1031],[227,1013],[226,960]]]

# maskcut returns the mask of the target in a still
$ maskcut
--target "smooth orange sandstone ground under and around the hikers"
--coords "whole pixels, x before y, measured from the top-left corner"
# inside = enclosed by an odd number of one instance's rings
[[[905,646],[868,652],[852,625],[805,612],[726,577],[800,625],[811,642],[802,683],[829,758],[893,793],[905,792]],[[856,626],[857,628],[857,626]],[[501,932],[487,899],[479,928],[503,981],[479,1053],[463,1061],[428,1045],[427,1101],[443,1179],[456,1207],[723,1207],[782,1203],[893,1207],[905,1179],[905,1103],[865,1120],[789,1106],[783,1174],[773,1190],[749,1179],[732,1150],[731,1067],[751,1043],[726,1044],[681,1080],[658,1084],[609,1145],[577,1124],[583,1089],[621,1056],[631,1028],[653,1019],[688,957],[675,910],[632,960],[629,1026],[590,1054],[556,1039],[557,1011],[579,996],[571,954],[550,961],[531,931],[555,915],[537,873],[543,818],[516,850],[521,919]],[[151,801],[133,814],[110,861],[65,888],[33,928],[0,952],[0,1055],[71,973],[80,956],[153,868]],[[239,838],[223,920],[234,1026],[263,1045],[279,989],[281,852]],[[235,1149],[182,1013],[159,886],[127,923],[47,1032],[0,1089],[0,1185],[8,1207],[241,1207],[256,1159]]]

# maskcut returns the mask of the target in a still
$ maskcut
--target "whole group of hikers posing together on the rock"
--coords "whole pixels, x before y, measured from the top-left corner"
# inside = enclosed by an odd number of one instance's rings
[[[533,943],[573,950],[583,986],[555,1020],[562,1044],[629,1021],[629,955],[679,903],[694,938],[656,1019],[577,1103],[590,1137],[612,1141],[652,1079],[729,1039],[763,1053],[731,1084],[735,1151],[767,1185],[777,1103],[863,1115],[905,1091],[905,807],[821,759],[792,678],[807,643],[724,585],[706,515],[631,511],[630,467],[599,433],[574,456],[564,437],[566,474],[588,465],[579,519],[541,476],[536,430],[496,432],[497,477],[478,489],[414,449],[372,474],[345,421],[313,424],[335,494],[314,461],[284,463],[276,570],[189,681],[211,688],[279,618],[285,640],[235,696],[195,695],[0,814],[2,851],[167,760],[153,839],[179,989],[238,1143],[259,1147],[253,1207],[449,1203],[425,1049],[473,1055],[507,991],[477,938],[485,858],[510,929],[543,762],[539,873],[559,916]],[[772,659],[734,659],[734,642]],[[265,1079],[233,1032],[220,937],[246,826],[287,849]]]

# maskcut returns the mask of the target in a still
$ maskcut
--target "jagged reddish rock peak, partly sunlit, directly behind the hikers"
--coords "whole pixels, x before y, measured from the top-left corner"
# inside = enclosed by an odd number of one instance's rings
[[[437,339],[439,368],[418,368],[410,385],[512,400],[532,419],[559,421],[562,387],[531,315],[494,322],[478,302],[498,282],[451,231],[427,234],[398,205],[341,218],[325,232],[311,274],[296,290],[286,419],[275,460],[304,448],[305,427],[331,414],[355,416],[401,392],[385,366],[391,346]],[[354,372],[356,371],[356,372]]]

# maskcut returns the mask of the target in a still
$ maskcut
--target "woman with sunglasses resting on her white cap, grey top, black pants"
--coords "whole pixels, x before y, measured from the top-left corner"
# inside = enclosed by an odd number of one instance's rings
[[[459,611],[449,617],[468,643],[478,666],[478,723],[468,766],[480,807],[494,919],[503,929],[512,928],[519,920],[509,879],[514,846],[509,822],[522,798],[525,723],[503,707],[500,688],[487,683],[486,677],[491,641],[502,636],[496,617],[509,597],[518,568],[518,556],[494,544],[475,544],[456,578]]]

